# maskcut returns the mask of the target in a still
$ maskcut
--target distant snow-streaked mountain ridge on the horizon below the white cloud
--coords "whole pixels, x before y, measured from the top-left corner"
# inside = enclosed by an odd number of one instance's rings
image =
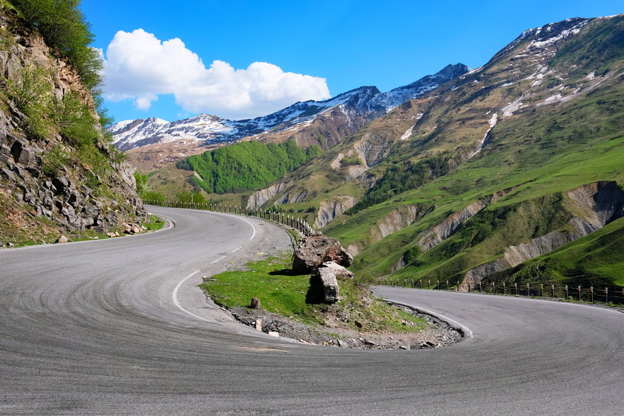
[[[196,142],[198,146],[233,142],[254,135],[258,136],[254,138],[266,140],[266,132],[269,130],[271,133],[293,135],[315,121],[322,120],[315,123],[314,133],[310,135],[329,137],[331,145],[392,108],[423,96],[469,70],[464,64],[448,65],[437,74],[385,93],[375,86],[362,86],[329,100],[297,102],[276,113],[253,119],[226,120],[200,114],[169,123],[159,118],[147,118],[122,121],[112,125],[108,131],[113,135],[113,143],[118,149],[130,150],[180,140]]]

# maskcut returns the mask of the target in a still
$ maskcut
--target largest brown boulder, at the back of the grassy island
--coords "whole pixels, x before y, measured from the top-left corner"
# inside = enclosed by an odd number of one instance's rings
[[[325,237],[317,232],[301,240],[293,256],[293,271],[310,273],[324,262],[334,262],[344,267],[351,266],[353,256],[335,238]]]

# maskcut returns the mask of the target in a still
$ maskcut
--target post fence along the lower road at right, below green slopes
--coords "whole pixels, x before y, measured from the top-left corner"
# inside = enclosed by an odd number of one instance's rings
[[[555,298],[577,300],[579,302],[601,302],[624,305],[624,288],[620,286],[580,286],[555,283],[506,283],[460,281],[432,281],[431,279],[378,279],[379,285],[400,286],[406,288],[430,289],[435,291],[461,291],[470,293],[488,293],[503,296],[524,296],[528,298]]]

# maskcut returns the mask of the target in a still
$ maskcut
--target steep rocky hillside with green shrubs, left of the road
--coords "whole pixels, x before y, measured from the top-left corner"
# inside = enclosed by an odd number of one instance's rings
[[[9,6],[0,83],[0,247],[136,230],[146,213],[132,169],[102,135],[90,91]]]

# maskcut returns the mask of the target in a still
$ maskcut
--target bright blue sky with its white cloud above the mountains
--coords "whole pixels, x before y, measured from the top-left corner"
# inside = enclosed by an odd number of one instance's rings
[[[110,115],[172,121],[263,116],[363,85],[387,91],[446,64],[480,67],[528,28],[623,13],[624,5],[84,0],[81,9],[108,60]]]

